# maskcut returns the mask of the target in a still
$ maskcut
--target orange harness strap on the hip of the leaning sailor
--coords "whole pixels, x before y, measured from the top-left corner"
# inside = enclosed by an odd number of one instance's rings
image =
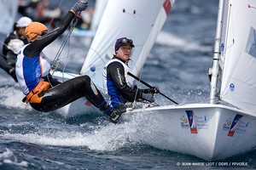
[[[23,102],[27,103],[41,103],[42,97],[38,97],[38,94],[49,89],[49,82],[44,82],[40,80],[36,88],[34,88],[30,93],[26,94],[26,97],[22,99]]]

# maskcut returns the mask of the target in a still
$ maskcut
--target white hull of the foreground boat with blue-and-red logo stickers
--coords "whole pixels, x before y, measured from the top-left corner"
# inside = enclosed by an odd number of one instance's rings
[[[140,124],[140,129],[147,129],[146,132],[137,132],[142,133],[142,142],[161,150],[177,151],[214,161],[256,147],[255,114],[228,106],[165,105],[131,111],[136,113],[134,115],[138,115],[137,112],[143,112],[143,119],[148,122]],[[189,125],[189,117],[192,117],[192,125]],[[131,114],[128,113],[123,116],[125,120],[130,118]]]

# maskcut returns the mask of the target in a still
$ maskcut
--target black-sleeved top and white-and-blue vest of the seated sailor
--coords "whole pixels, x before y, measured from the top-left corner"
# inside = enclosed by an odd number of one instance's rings
[[[103,88],[108,94],[113,107],[134,101],[141,97],[140,89],[135,88],[135,82],[127,73],[130,71],[128,65],[116,56],[113,57],[103,68]]]

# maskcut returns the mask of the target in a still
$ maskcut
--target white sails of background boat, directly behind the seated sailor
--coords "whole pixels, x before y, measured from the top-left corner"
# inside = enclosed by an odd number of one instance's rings
[[[108,0],[80,73],[102,87],[103,66],[112,59],[119,37],[133,40],[131,71],[140,72],[172,3],[174,0]]]

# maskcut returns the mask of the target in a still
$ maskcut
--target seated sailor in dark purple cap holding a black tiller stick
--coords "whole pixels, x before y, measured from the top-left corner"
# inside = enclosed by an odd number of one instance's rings
[[[111,99],[113,108],[123,108],[127,101],[147,100],[154,102],[153,94],[159,93],[158,88],[139,89],[133,83],[133,78],[127,73],[130,70],[128,61],[131,49],[134,48],[131,39],[120,37],[115,43],[113,59],[103,68],[103,87]]]

